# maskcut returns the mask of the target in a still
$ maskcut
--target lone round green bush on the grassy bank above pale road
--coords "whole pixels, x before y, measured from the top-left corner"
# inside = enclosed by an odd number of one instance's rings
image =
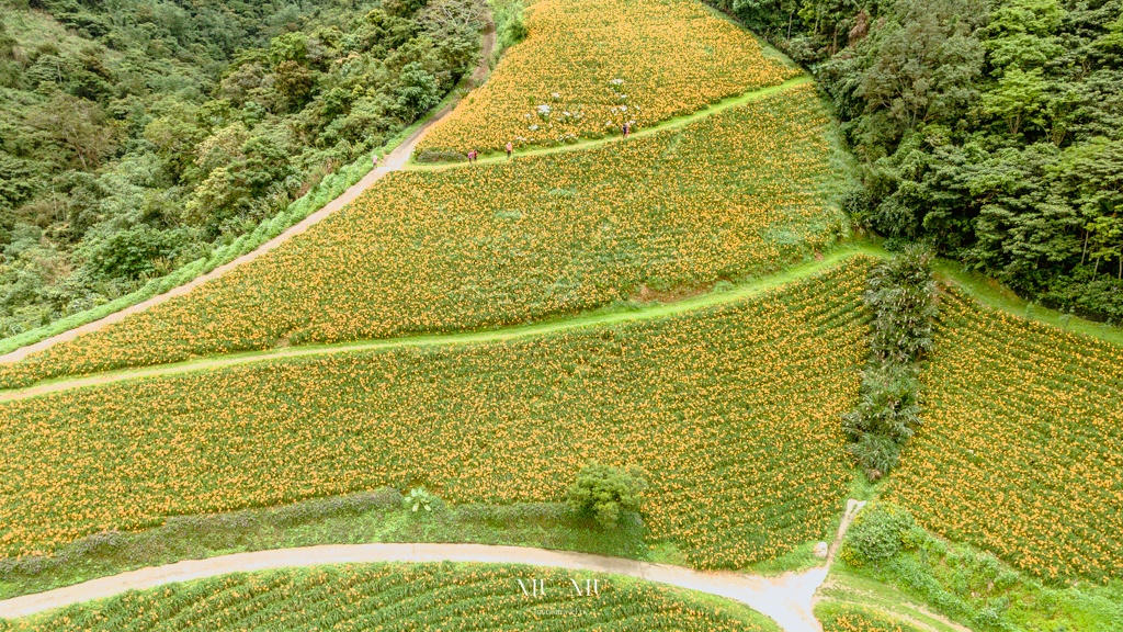
[[[566,495],[578,514],[614,529],[627,514],[638,514],[647,479],[642,470],[621,470],[592,462],[582,468]]]

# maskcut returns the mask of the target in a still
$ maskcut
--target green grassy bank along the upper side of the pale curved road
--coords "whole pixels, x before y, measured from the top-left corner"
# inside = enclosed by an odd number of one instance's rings
[[[531,547],[684,566],[670,542],[649,541],[641,524],[604,530],[566,503],[451,505],[435,498],[417,514],[392,488],[312,498],[291,505],[174,516],[137,532],[95,533],[49,556],[0,560],[0,601],[182,560],[321,544],[475,543]],[[831,532],[837,533],[837,524]],[[814,542],[750,565],[745,572],[776,576],[822,565]]]

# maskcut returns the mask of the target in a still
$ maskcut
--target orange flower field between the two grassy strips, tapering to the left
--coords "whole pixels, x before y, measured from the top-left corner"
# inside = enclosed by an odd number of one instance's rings
[[[396,172],[267,255],[0,369],[0,386],[193,355],[511,325],[776,270],[844,224],[810,84],[595,150]]]

